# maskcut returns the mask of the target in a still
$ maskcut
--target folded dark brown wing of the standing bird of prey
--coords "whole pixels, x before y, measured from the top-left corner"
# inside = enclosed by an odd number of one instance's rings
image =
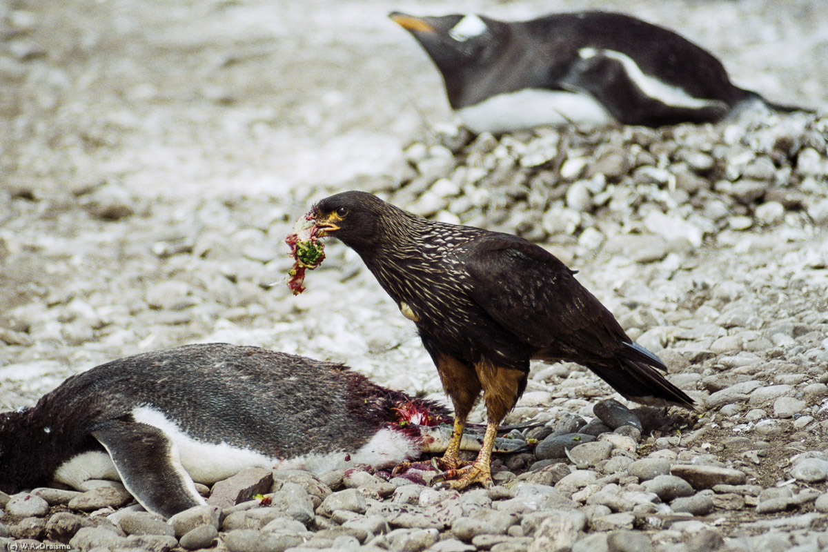
[[[471,278],[469,295],[522,343],[570,356],[605,357],[628,340],[574,272],[542,247],[489,234],[457,254]]]

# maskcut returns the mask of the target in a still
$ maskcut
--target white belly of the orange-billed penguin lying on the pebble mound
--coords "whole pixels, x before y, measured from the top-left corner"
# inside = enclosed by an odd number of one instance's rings
[[[588,94],[546,89],[498,94],[458,109],[457,114],[465,127],[478,134],[557,127],[570,122],[599,126],[613,121],[604,106]]]

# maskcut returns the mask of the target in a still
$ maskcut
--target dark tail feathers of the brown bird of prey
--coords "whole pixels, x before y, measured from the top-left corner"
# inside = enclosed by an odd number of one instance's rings
[[[612,365],[590,363],[586,367],[630,401],[648,406],[696,408],[696,401],[668,382],[648,363],[617,358]]]

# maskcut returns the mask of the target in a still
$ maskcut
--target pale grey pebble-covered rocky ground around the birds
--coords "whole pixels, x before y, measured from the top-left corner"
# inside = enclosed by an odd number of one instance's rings
[[[229,485],[272,492],[269,506],[236,497],[167,524],[117,485],[39,490],[0,495],[2,541],[828,546],[826,113],[470,137],[444,124],[436,73],[385,20],[391,8],[437,8],[351,3],[0,5],[0,410],[113,358],[212,341],[347,362],[439,398],[412,325],[352,252],[331,242],[306,292],[286,288],[293,220],[348,188],[542,243],[703,407],[631,413],[601,402],[619,397],[583,368],[538,363],[509,421],[548,424],[516,435],[539,444],[499,458],[488,491],[363,472],[247,473]],[[458,9],[550,9],[515,3]],[[681,26],[739,84],[828,103],[822,2],[785,12],[770,0],[616,4],[601,2]]]

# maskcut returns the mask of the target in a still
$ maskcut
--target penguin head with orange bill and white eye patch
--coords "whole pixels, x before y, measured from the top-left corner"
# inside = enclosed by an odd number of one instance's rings
[[[508,25],[474,14],[414,17],[392,12],[388,17],[412,33],[434,61],[452,108],[462,107],[461,89],[497,62],[498,46],[508,36]]]

